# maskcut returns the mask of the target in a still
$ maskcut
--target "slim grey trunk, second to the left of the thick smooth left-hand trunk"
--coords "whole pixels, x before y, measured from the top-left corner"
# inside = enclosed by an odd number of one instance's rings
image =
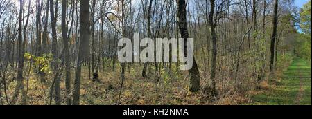
[[[50,14],[51,14],[51,28],[52,28],[52,54],[54,61],[58,58],[58,51],[57,51],[57,45],[58,45],[58,39],[56,34],[56,21],[57,21],[57,12],[58,9],[56,8],[54,10],[54,1],[50,0]],[[53,65],[53,71],[56,72],[58,70],[58,64],[55,62]],[[58,73],[54,73],[58,74]],[[60,78],[58,75],[55,78],[55,104],[60,105],[61,99],[60,99]]]

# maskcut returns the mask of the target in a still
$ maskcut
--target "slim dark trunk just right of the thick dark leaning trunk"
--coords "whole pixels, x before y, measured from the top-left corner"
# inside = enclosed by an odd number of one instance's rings
[[[214,8],[215,0],[210,0],[211,8],[209,13],[209,25],[211,28],[211,41],[212,41],[212,55],[211,55],[211,88],[212,93],[216,94],[216,57],[217,57],[217,44],[216,44],[216,23],[214,23]]]

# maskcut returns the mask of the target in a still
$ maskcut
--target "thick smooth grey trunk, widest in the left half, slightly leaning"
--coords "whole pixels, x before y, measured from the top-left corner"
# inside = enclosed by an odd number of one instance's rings
[[[80,45],[78,51],[78,60],[76,68],[75,82],[73,86],[73,105],[79,105],[80,100],[80,77],[81,66],[89,53],[90,38],[90,0],[80,1]]]

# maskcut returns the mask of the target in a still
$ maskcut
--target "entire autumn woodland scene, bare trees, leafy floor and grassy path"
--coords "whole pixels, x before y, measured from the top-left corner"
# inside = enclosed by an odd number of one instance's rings
[[[311,105],[296,1],[0,0],[0,105]]]

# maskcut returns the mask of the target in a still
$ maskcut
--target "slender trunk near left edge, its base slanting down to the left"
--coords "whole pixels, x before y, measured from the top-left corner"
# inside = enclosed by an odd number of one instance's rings
[[[22,26],[23,26],[23,4],[24,1],[23,0],[19,0],[19,50],[18,50],[18,68],[17,68],[17,84],[15,86],[15,91],[13,94],[13,99],[11,104],[15,104],[17,97],[19,95],[19,91],[24,89],[23,86],[23,68],[24,68],[24,45],[23,45],[23,36],[22,36]]]

